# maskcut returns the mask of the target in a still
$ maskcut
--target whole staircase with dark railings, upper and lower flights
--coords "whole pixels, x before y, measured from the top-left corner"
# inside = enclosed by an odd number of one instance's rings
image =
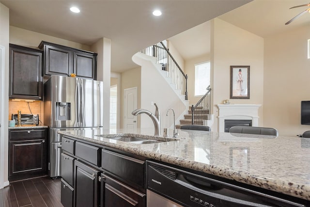
[[[159,70],[159,73],[166,79],[167,83],[170,84],[177,96],[182,101],[181,104],[173,103],[170,107],[174,110],[177,109],[178,113],[176,116],[176,123],[180,122],[180,125],[176,125],[176,128],[180,128],[181,125],[205,125],[211,127],[214,122],[213,114],[210,114],[211,106],[211,88],[206,88],[206,94],[198,101],[196,105],[188,108],[189,101],[187,100],[187,74],[185,74],[181,67],[176,63],[172,57],[169,49],[160,42],[151,47],[145,48],[136,54],[136,56],[142,55],[148,56],[155,67]],[[144,57],[146,59],[146,57]],[[134,60],[134,58],[133,58]],[[188,109],[188,110],[186,110]],[[192,115],[192,111],[193,114]],[[188,113],[188,114],[186,114]],[[184,117],[184,119],[183,119]]]

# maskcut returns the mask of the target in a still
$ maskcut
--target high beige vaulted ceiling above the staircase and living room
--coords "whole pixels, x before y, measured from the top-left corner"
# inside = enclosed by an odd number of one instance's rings
[[[289,8],[308,3],[309,0],[253,0],[218,18],[266,38],[298,27],[310,26],[308,13],[285,25],[287,21],[309,7]],[[210,21],[170,37],[169,40],[185,60],[208,54],[210,53]]]

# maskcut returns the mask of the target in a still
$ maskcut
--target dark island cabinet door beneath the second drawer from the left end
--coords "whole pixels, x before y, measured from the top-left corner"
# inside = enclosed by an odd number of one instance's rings
[[[99,182],[100,172],[92,167],[75,160],[74,161],[74,206],[98,207],[99,206]]]

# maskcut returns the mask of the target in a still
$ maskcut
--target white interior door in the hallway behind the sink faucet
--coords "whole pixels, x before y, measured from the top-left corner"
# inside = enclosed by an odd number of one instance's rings
[[[131,114],[138,108],[138,88],[124,89],[124,130],[127,133],[137,131],[137,116]]]

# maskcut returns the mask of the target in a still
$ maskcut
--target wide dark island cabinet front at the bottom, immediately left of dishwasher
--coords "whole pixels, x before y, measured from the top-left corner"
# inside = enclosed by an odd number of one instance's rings
[[[145,194],[101,174],[101,207],[145,207]]]

